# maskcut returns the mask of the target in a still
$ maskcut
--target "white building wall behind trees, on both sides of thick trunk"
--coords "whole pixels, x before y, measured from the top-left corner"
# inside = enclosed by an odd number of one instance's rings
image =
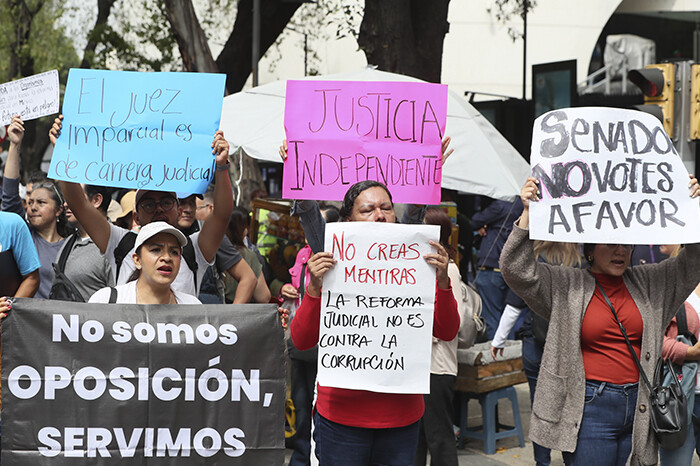
[[[493,3],[493,0],[450,2],[450,31],[445,36],[442,82],[459,94],[468,90],[520,98],[523,42],[511,40],[508,27],[521,33],[522,19],[515,17],[509,24],[497,21],[487,11]],[[576,80],[581,82],[586,78],[600,33],[613,13],[658,11],[698,12],[700,0],[538,0],[535,9],[528,14],[527,98],[532,97],[533,64],[576,59]],[[310,47],[315,48],[321,58],[319,71],[322,74],[353,71],[366,65],[364,54],[351,37],[310,43]],[[269,58],[262,60],[260,84],[304,75],[303,36],[291,33],[280,51],[282,59],[275,71],[268,71]]]

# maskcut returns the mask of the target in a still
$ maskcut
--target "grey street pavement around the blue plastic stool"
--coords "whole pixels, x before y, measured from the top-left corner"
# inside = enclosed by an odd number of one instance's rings
[[[531,466],[535,464],[532,455],[532,442],[528,440],[530,428],[530,392],[526,383],[515,386],[518,393],[518,408],[520,409],[520,419],[523,423],[525,434],[525,446],[520,447],[517,437],[509,437],[496,441],[496,453],[486,455],[480,440],[467,439],[464,447],[457,450],[460,466]],[[477,400],[469,401],[468,425],[475,427],[481,425],[481,407]],[[510,402],[502,400],[499,403],[499,416],[501,424],[513,425],[513,412]],[[291,457],[291,450],[287,449],[287,463]],[[430,462],[428,462],[430,464]],[[560,452],[552,452],[552,466],[563,466],[564,461]],[[700,466],[697,455],[693,457],[693,466]]]

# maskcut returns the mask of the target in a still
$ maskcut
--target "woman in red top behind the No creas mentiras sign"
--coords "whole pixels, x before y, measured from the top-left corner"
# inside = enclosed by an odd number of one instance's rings
[[[376,181],[353,185],[345,194],[340,216],[350,222],[395,222],[391,194]],[[453,339],[459,330],[457,303],[447,276],[449,256],[431,241],[437,254],[426,261],[437,269],[433,335]],[[319,338],[321,285],[335,264],[331,253],[319,252],[308,262],[311,279],[291,324],[294,345],[305,350]],[[316,456],[324,465],[412,465],[423,415],[420,394],[377,393],[318,386],[314,439]]]

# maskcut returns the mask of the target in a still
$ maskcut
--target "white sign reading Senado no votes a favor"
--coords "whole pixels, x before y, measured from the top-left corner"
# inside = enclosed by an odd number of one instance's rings
[[[532,239],[622,244],[700,241],[698,201],[661,122],[634,110],[554,110],[535,120],[530,157],[542,199]]]

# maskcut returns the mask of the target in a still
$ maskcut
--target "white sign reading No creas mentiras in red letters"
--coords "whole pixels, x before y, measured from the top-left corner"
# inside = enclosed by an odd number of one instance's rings
[[[429,392],[435,267],[423,255],[438,237],[434,225],[326,225],[326,250],[338,262],[323,279],[321,385]]]

